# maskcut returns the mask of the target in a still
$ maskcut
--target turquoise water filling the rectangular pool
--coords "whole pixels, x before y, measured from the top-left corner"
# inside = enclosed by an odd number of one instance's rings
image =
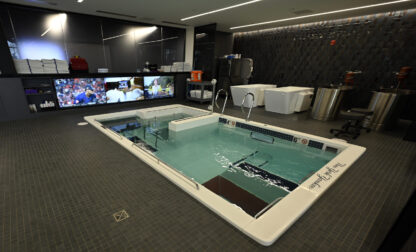
[[[171,120],[186,117],[189,115],[177,114],[175,117],[151,120],[130,118],[124,122],[104,124],[112,127],[137,122],[135,127],[131,126],[119,133],[127,138],[140,138],[157,149],[154,154],[158,158],[201,184],[221,176],[267,203],[284,197],[289,191],[277,186],[271,179],[237,167],[239,163],[246,162],[269,174],[300,184],[336,155],[278,138],[269,141],[270,136],[255,133],[256,138],[262,140],[259,141],[252,138],[249,130],[229,128],[222,123],[181,132],[168,130]]]

